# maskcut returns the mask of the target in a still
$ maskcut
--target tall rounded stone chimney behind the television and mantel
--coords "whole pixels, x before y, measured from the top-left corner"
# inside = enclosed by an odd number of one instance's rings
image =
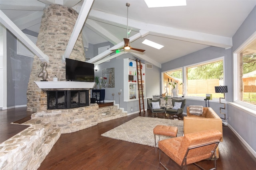
[[[53,81],[55,75],[59,81],[66,80],[65,64],[62,63],[62,56],[68,45],[77,17],[78,14],[75,10],[65,6],[50,5],[44,9],[36,45],[49,57],[46,69],[48,81]],[[81,33],[69,58],[85,61]],[[42,80],[38,78],[38,73],[42,69],[41,63],[42,61],[35,56],[28,83],[27,111],[37,112],[47,109],[47,91],[40,89],[35,83],[35,81]]]

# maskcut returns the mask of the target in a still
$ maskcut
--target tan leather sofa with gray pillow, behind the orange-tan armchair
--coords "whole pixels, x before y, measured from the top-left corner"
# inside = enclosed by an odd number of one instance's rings
[[[203,107],[202,115],[193,115],[187,107],[187,116],[184,116],[184,135],[210,129],[217,129],[222,132],[222,120],[211,107]],[[223,135],[220,138],[223,141]],[[217,158],[218,148],[216,149]]]

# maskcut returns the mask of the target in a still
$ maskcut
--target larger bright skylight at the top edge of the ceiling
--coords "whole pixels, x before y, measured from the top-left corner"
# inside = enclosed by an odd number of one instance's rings
[[[144,0],[148,8],[167,6],[186,6],[186,0]]]

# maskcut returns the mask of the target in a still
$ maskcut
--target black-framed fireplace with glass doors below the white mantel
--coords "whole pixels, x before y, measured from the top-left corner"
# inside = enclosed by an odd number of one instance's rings
[[[70,109],[89,106],[89,90],[47,91],[47,109]]]

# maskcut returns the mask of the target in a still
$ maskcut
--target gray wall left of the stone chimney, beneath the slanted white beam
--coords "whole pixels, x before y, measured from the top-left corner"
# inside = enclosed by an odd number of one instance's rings
[[[7,107],[27,104],[32,57],[17,55],[16,37],[7,30]]]

